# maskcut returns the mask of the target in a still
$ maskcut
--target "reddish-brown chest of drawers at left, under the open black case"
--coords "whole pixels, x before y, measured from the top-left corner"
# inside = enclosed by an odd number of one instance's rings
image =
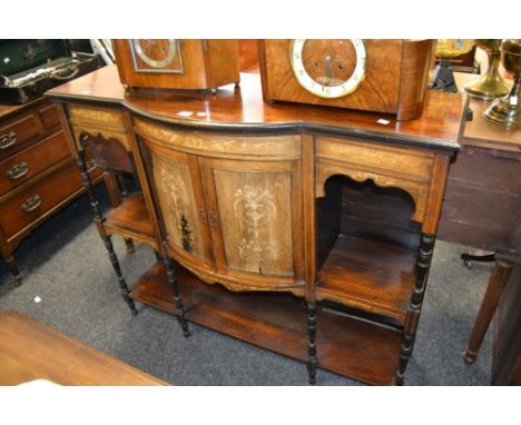
[[[56,107],[43,98],[0,106],[0,253],[17,286],[13,250],[82,191]]]

